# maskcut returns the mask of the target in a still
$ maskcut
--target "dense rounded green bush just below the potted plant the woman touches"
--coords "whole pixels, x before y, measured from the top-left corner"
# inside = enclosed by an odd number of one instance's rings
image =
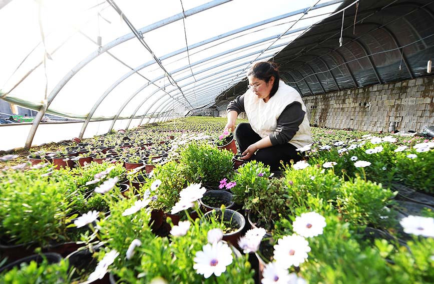
[[[188,181],[210,186],[217,186],[219,180],[230,177],[232,157],[232,152],[197,142],[188,144],[181,152]]]

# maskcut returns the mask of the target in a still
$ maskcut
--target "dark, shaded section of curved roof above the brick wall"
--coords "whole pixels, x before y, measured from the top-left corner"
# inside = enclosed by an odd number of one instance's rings
[[[363,0],[342,14],[315,25],[273,58],[282,79],[303,96],[429,75],[434,1]],[[246,87],[238,83],[217,104],[243,94]]]

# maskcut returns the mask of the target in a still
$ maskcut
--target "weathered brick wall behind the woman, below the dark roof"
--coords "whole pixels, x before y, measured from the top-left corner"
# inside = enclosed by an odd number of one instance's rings
[[[303,97],[310,124],[421,132],[434,125],[434,76]]]

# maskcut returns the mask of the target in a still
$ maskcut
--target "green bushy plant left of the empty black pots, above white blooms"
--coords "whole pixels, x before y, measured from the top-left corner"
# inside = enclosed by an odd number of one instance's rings
[[[151,205],[153,208],[169,212],[179,201],[179,192],[187,187],[184,171],[184,166],[175,161],[155,167],[152,179],[145,185],[145,189],[150,189],[155,180],[161,180],[160,186],[155,192],[152,192],[152,195],[157,196],[157,200]]]

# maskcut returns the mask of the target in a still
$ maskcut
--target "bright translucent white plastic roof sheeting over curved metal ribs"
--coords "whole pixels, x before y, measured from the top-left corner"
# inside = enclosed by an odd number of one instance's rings
[[[183,116],[341,3],[14,0],[0,5],[0,98],[39,111],[33,134],[45,112],[111,128]]]

